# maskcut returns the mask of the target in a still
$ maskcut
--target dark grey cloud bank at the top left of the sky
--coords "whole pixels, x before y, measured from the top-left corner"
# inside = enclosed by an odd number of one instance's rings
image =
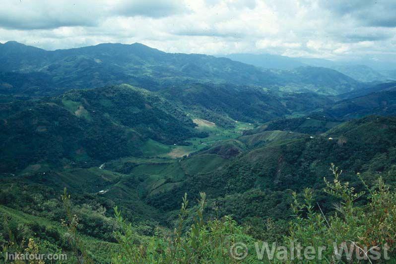
[[[18,30],[94,27],[113,16],[159,18],[188,11],[180,0],[8,0],[1,5],[0,27]]]

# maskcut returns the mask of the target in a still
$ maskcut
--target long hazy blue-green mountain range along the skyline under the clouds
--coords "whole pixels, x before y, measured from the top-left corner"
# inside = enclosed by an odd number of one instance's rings
[[[0,45],[2,72],[41,73],[42,84],[21,87],[12,76],[0,79],[6,93],[40,95],[49,86],[54,91],[93,88],[128,83],[149,90],[191,83],[256,85],[272,90],[316,91],[339,94],[358,89],[359,83],[326,68],[271,70],[227,58],[199,54],[171,54],[142,44],[99,44],[96,46],[45,51],[16,42]],[[333,76],[331,80],[328,76]],[[23,78],[31,78],[24,75]],[[11,81],[9,82],[9,79]],[[329,82],[328,82],[329,81]],[[25,86],[26,83],[24,82]],[[26,89],[25,89],[26,88]],[[47,93],[44,93],[47,94]],[[43,95],[43,94],[41,94]]]

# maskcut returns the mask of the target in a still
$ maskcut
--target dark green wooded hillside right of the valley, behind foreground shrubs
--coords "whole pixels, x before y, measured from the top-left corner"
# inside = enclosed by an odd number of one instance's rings
[[[259,189],[267,194],[280,192],[279,199],[283,197],[286,200],[289,189],[298,192],[305,187],[320,190],[323,186],[322,178],[329,174],[328,168],[332,161],[347,168],[345,179],[358,188],[359,180],[352,178],[356,172],[362,173],[364,177],[371,177],[373,174],[392,170],[396,158],[395,124],[394,117],[372,116],[340,124],[323,135],[310,136],[282,131],[244,135],[238,140],[246,143],[249,148],[239,147],[239,154],[229,159],[226,166],[223,163],[218,165],[222,170],[188,177],[171,192],[156,194],[148,202],[158,208],[176,209],[175,194],[180,196],[186,190],[191,194],[204,190],[211,198],[217,197],[225,202],[224,199],[232,199],[234,195],[252,196],[252,190]],[[207,154],[202,152],[200,155]],[[183,162],[197,159],[200,155],[194,155]],[[385,180],[393,181],[392,175],[384,175]],[[239,201],[238,205],[229,204],[231,208],[223,208],[229,211],[223,212],[233,213],[241,221],[246,220],[249,215],[256,215],[257,211],[246,209],[241,212],[234,207],[251,208],[248,205],[249,199],[246,202],[245,204],[244,200]],[[327,203],[323,200],[322,202]],[[260,204],[260,208],[268,210],[270,206],[275,207],[264,213],[264,218],[271,213],[278,218],[280,213],[275,211],[283,210],[285,208],[282,206],[286,206],[280,200],[276,201],[276,205],[268,203],[270,202]]]

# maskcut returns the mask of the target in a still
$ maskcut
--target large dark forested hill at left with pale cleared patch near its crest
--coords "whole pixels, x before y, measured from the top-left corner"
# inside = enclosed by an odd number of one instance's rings
[[[34,162],[98,164],[141,155],[148,139],[183,144],[206,135],[173,103],[127,85],[6,103],[0,115],[3,172]]]

